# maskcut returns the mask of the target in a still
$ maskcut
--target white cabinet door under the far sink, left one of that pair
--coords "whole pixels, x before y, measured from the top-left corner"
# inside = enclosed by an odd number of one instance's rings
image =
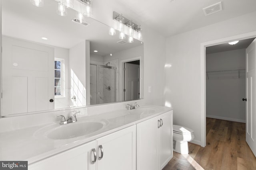
[[[158,117],[137,124],[137,170],[157,170]]]

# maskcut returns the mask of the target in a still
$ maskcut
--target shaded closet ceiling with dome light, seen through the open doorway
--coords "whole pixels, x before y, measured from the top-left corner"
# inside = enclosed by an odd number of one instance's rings
[[[246,49],[254,39],[255,38],[239,40],[239,42],[235,45],[223,43],[223,44],[214,45],[211,47],[206,47],[206,54],[219,53],[223,51],[231,51],[231,50],[237,50],[237,49]]]

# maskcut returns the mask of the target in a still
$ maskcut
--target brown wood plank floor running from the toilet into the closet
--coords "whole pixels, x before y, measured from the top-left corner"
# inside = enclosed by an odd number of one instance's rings
[[[206,118],[206,147],[189,143],[189,154],[173,152],[163,170],[256,170],[245,141],[245,123]]]

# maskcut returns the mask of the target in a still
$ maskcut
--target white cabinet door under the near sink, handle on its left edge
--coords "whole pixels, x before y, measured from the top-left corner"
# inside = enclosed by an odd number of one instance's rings
[[[96,146],[97,170],[136,170],[136,125],[97,139]]]

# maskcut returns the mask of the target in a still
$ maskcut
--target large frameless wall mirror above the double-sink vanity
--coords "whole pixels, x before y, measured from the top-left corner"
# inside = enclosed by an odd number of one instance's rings
[[[143,43],[57,6],[2,0],[2,116],[142,98]]]

